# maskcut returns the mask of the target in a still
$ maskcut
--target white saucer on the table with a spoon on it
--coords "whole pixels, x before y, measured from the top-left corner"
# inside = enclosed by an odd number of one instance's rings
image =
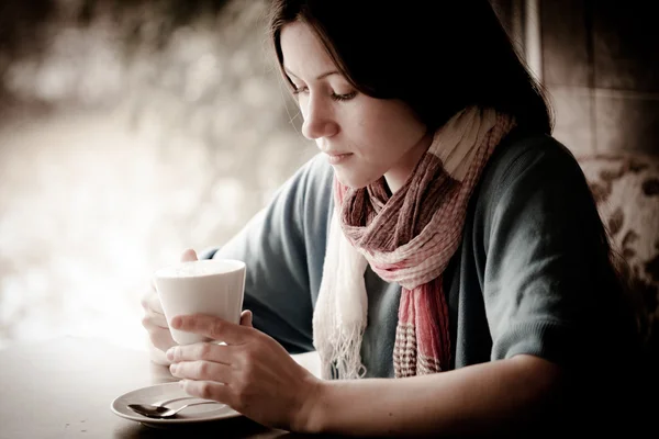
[[[227,405],[223,404],[202,404],[188,407],[175,417],[169,419],[147,418],[133,412],[129,408],[129,404],[153,404],[156,401],[170,399],[180,396],[189,396],[178,383],[165,383],[150,385],[148,387],[137,389],[129,393],[124,393],[112,401],[110,408],[116,416],[122,418],[136,420],[138,423],[160,427],[165,425],[191,424],[191,423],[208,423],[225,418],[242,416]],[[177,401],[167,404],[168,407],[176,408],[185,404],[204,401],[201,398]]]

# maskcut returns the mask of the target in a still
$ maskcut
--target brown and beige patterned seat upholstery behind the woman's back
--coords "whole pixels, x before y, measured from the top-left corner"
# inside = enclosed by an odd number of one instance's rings
[[[647,313],[641,319],[646,347],[659,358],[659,156],[594,155],[578,160]]]

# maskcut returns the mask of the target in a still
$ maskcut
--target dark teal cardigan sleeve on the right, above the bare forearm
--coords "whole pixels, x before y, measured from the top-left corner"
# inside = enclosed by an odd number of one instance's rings
[[[492,360],[611,362],[621,290],[592,194],[567,148],[546,137],[527,142],[494,178],[484,212]]]

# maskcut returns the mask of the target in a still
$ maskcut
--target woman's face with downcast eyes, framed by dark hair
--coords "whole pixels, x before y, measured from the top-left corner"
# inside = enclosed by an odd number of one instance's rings
[[[306,24],[286,25],[280,43],[302,134],[316,142],[342,183],[362,188],[384,176],[395,192],[432,142],[425,125],[402,101],[355,90]]]

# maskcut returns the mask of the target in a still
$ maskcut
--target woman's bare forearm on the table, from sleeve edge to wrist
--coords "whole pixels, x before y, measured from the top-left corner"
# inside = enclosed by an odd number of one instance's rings
[[[326,381],[302,429],[355,436],[501,431],[537,417],[551,403],[559,375],[556,364],[521,354],[400,380]]]

